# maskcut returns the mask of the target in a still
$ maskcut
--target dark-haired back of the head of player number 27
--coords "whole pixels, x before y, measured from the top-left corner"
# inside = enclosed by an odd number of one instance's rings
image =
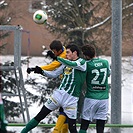
[[[90,58],[95,57],[96,50],[93,45],[84,45],[81,49],[85,56],[89,56]]]

